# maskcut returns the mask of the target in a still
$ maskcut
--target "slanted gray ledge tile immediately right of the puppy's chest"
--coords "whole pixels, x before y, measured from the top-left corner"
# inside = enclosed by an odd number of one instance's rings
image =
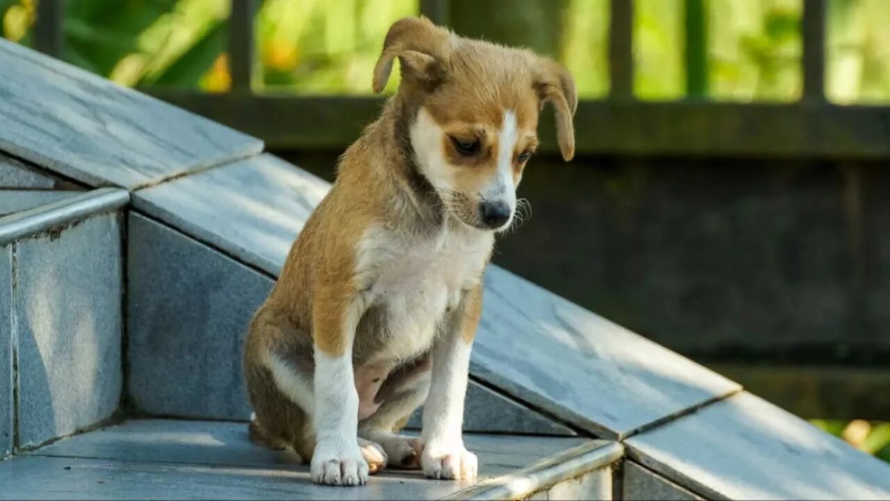
[[[739,386],[498,267],[471,370],[480,379],[606,438]]]

